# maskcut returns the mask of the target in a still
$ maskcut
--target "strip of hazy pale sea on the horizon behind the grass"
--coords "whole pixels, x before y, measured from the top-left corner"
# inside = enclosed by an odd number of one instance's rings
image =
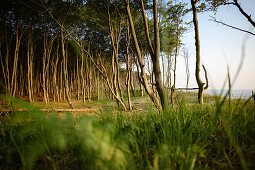
[[[247,90],[247,89],[232,89],[231,90],[231,98],[232,99],[248,99],[252,95],[252,91],[255,93],[255,90]],[[207,89],[205,90],[205,94],[211,95],[220,95],[221,90],[219,89]],[[228,90],[223,90],[222,96],[225,96]]]

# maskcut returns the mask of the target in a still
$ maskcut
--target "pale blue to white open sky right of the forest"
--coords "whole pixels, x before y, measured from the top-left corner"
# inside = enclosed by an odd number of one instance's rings
[[[255,20],[255,0],[239,0],[241,6]],[[186,0],[190,7],[190,0]],[[164,1],[166,3],[166,0]],[[192,20],[192,13],[188,14],[187,20]],[[228,67],[233,89],[255,90],[255,36],[247,35],[238,30],[222,26],[209,21],[210,16],[229,25],[236,26],[255,33],[255,28],[239,12],[235,6],[222,6],[217,13],[204,12],[198,14],[198,25],[201,45],[201,64],[204,64],[209,79],[209,88],[222,89],[227,78]],[[195,39],[192,28],[183,37],[185,47],[189,49],[190,58],[190,82],[189,87],[197,87],[195,80]],[[244,47],[244,50],[242,50]],[[243,55],[243,54],[244,55]],[[236,81],[233,79],[237,74],[238,67],[243,60]],[[166,63],[166,62],[165,62]],[[186,74],[182,56],[177,60],[176,87],[185,87]],[[205,82],[203,69],[201,78]],[[228,88],[225,86],[225,88]]]

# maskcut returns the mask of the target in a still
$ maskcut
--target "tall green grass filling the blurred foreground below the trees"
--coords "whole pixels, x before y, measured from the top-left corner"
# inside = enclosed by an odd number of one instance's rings
[[[5,100],[29,111],[1,120],[0,169],[255,168],[253,101],[216,98],[201,106],[183,100],[163,113],[152,106],[131,114],[106,107],[97,116],[60,118]]]

